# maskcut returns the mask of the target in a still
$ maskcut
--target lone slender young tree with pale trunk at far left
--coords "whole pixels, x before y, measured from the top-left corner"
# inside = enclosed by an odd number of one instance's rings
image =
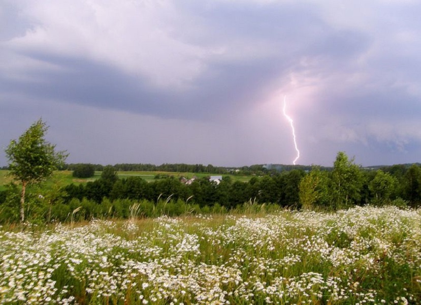
[[[29,127],[19,140],[10,141],[6,148],[9,160],[9,174],[21,182],[20,221],[25,220],[25,191],[31,184],[44,181],[66,160],[66,151],[55,151],[55,145],[44,136],[48,130],[46,123],[39,119]]]

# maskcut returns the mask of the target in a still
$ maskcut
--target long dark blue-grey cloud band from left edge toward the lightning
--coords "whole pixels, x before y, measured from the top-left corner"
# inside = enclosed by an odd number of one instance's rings
[[[154,88],[143,77],[132,77],[110,66],[81,58],[27,56],[60,69],[32,71],[30,80],[0,76],[0,90],[38,99],[171,118],[211,118],[212,113],[233,111],[236,106],[245,107],[261,100],[265,83],[276,76],[275,68],[264,62],[219,64],[193,83],[190,89],[178,93]]]

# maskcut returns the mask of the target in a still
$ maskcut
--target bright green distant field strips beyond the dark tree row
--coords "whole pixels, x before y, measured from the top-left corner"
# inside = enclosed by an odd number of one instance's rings
[[[12,178],[10,176],[7,176],[8,170],[0,170],[0,191],[5,189],[5,185],[10,183],[12,181]],[[147,172],[147,171],[120,171],[117,172],[117,175],[119,178],[127,178],[127,177],[141,177],[145,179],[146,181],[153,181],[155,179],[155,176],[159,174],[161,177],[165,176],[173,176],[176,178],[185,177],[185,178],[191,178],[191,177],[207,177],[210,175],[216,175],[216,174],[209,174],[209,173],[188,173],[188,172],[162,172],[162,171],[156,171],[156,172]],[[222,175],[222,176],[230,176],[233,181],[248,181],[251,176],[240,176],[240,175]],[[63,170],[63,171],[55,171],[54,175],[49,178],[46,182],[47,187],[52,185],[58,185],[58,186],[66,186],[69,184],[84,184],[88,181],[93,181],[95,179],[98,179],[101,177],[101,172],[96,171],[95,175],[90,178],[75,178],[72,176],[72,171],[69,170]]]

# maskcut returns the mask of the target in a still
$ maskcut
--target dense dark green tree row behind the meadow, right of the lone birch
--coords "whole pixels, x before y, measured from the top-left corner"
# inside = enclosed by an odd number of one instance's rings
[[[97,204],[104,198],[155,202],[158,197],[171,196],[175,201],[190,198],[190,202],[200,207],[218,203],[228,209],[251,201],[290,208],[335,210],[352,205],[391,204],[398,199],[415,207],[421,203],[421,167],[414,164],[409,168],[396,165],[377,171],[365,170],[341,151],[330,171],[314,166],[308,172],[294,169],[253,176],[248,182],[223,176],[219,184],[203,177],[187,185],[175,177],[152,182],[137,176],[119,179],[114,168],[107,166],[100,179],[86,185],[68,185],[63,192],[67,194],[64,202],[87,198]]]

